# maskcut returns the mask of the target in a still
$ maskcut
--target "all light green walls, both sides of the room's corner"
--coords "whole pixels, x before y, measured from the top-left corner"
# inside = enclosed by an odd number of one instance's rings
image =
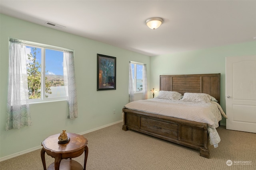
[[[9,37],[74,50],[78,92],[78,118],[66,119],[66,102],[31,104],[33,125],[4,131],[6,119]],[[96,91],[96,54],[116,57],[117,89]],[[161,74],[221,73],[221,106],[225,102],[225,57],[256,55],[256,41],[222,47],[148,57],[104,43],[0,15],[0,158],[40,146],[49,135],[83,133],[122,120],[128,103],[128,61],[146,63],[148,89],[159,89]],[[150,63],[152,66],[150,66]],[[152,94],[148,94],[152,98]],[[158,92],[156,92],[156,96]],[[116,114],[113,110],[116,109]],[[225,120],[222,123],[226,123]],[[90,139],[88,139],[90,142]]]

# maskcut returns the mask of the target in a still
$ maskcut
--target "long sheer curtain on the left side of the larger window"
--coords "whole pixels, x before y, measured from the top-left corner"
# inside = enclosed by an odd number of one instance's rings
[[[16,39],[9,41],[6,131],[32,125],[28,103],[26,47]]]

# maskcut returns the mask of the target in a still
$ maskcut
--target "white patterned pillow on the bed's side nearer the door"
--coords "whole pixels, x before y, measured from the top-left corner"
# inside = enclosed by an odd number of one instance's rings
[[[205,93],[184,93],[184,96],[180,101],[210,103],[211,96]]]

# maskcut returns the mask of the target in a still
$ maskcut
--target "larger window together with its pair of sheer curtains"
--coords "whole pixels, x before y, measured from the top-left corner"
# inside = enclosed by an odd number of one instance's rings
[[[6,131],[31,125],[32,100],[67,100],[68,118],[78,117],[73,51],[9,38],[8,65]],[[48,79],[55,72],[63,78]]]

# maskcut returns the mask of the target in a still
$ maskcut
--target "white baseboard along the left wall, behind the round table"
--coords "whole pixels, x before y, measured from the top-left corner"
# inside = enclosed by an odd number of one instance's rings
[[[108,127],[108,126],[114,125],[114,124],[116,124],[116,123],[120,123],[120,122],[122,122],[122,121],[123,121],[123,120],[116,121],[116,122],[114,122],[114,123],[110,123],[110,124],[108,124],[108,125],[104,125],[104,126],[101,126],[101,127],[97,127],[97,128],[91,129],[91,130],[89,130],[89,131],[84,131],[84,132],[78,133],[78,134],[79,134],[79,135],[84,135],[84,134],[86,134],[86,133],[90,133],[90,132],[93,132],[93,131],[97,131],[97,130],[99,130],[99,129],[102,129],[102,128],[104,128],[104,127]],[[0,162],[1,162],[1,161],[4,161],[4,160],[7,160],[7,159],[10,159],[10,158],[14,158],[14,157],[16,157],[16,156],[20,156],[20,155],[22,155],[22,154],[26,154],[26,153],[29,153],[29,152],[38,150],[38,149],[42,149],[42,146],[40,145],[40,146],[38,146],[38,147],[34,147],[34,148],[31,148],[31,149],[23,150],[23,151],[18,152],[18,153],[14,153],[14,154],[11,154],[11,155],[8,155],[8,156],[4,156],[4,157],[0,158]]]

